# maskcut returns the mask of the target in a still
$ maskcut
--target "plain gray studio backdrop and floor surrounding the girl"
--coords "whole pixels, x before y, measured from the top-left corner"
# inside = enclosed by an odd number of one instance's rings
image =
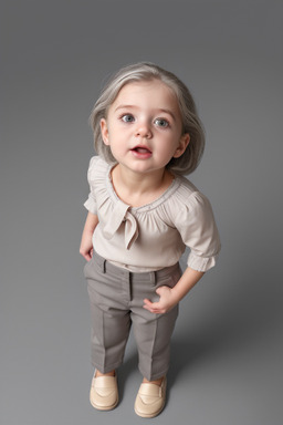
[[[275,0],[1,1],[1,424],[143,423],[134,339],[119,406],[88,403],[78,255],[87,117],[105,79],[140,60],[196,96],[207,148],[190,178],[222,239],[181,302],[169,403],[150,422],[282,424],[282,12]]]

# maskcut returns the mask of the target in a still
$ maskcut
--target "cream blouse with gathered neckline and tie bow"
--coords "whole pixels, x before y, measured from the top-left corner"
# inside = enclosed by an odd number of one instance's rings
[[[132,271],[153,271],[179,261],[190,248],[188,266],[207,271],[220,251],[219,234],[209,200],[185,177],[175,176],[156,200],[130,207],[116,195],[113,165],[91,158],[86,209],[98,216],[94,250],[108,261]]]

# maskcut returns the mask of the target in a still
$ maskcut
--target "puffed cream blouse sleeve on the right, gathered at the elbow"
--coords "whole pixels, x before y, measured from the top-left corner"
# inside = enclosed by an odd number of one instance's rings
[[[176,217],[176,228],[190,248],[188,267],[207,271],[216,265],[221,245],[211,205],[207,197],[193,191]]]

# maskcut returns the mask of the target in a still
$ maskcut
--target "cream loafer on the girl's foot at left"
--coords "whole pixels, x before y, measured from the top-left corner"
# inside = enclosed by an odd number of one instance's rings
[[[97,376],[92,380],[90,401],[98,411],[111,411],[118,404],[117,375]]]

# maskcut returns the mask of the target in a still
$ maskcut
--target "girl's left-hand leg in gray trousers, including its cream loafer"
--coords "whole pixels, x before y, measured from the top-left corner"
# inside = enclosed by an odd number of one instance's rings
[[[84,268],[92,314],[92,380],[90,401],[99,411],[118,403],[115,369],[123,362],[130,329],[129,311],[123,303],[119,273],[106,273],[104,259],[94,257]]]

